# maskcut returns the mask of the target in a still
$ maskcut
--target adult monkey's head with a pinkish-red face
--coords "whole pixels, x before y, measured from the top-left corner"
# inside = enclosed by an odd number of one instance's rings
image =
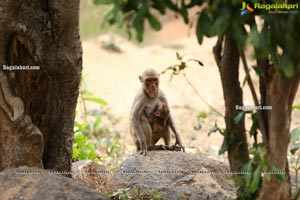
[[[150,98],[158,97],[159,74],[154,69],[146,69],[139,79],[143,85],[145,93]]]

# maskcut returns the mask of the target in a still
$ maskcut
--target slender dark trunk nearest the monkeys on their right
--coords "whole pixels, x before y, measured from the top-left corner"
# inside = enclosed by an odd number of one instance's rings
[[[224,140],[228,144],[230,168],[233,171],[239,171],[249,161],[244,118],[238,124],[233,122],[239,112],[236,110],[236,105],[243,106],[243,93],[239,82],[239,51],[230,34],[225,34],[224,38],[223,56],[221,56],[223,41],[220,42],[220,40],[214,47],[214,54],[221,75],[225,100],[225,132],[227,136],[225,135]]]

